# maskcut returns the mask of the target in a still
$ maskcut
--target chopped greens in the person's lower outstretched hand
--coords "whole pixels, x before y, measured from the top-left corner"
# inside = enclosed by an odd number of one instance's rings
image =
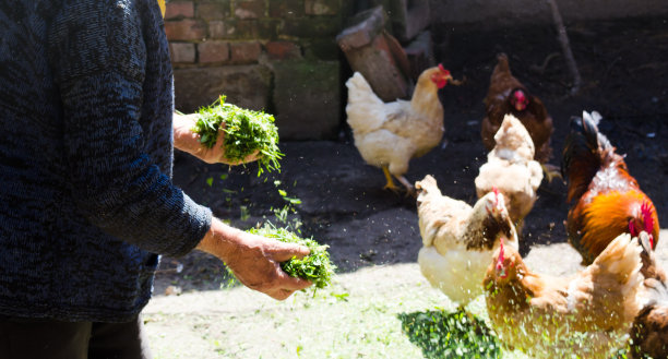
[[[336,266],[330,261],[329,246],[321,246],[311,238],[300,238],[285,228],[276,228],[271,224],[261,228],[251,228],[249,232],[266,238],[277,239],[282,242],[302,244],[311,253],[301,260],[293,258],[281,263],[281,268],[293,277],[300,277],[313,283],[314,288],[324,288],[332,282]]]

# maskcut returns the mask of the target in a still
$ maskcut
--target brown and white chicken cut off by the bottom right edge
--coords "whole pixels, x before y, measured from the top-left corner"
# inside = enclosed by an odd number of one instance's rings
[[[630,347],[631,358],[668,358],[668,282],[666,272],[658,266],[646,231],[639,236],[643,252],[641,259],[645,277],[641,295],[643,307],[633,321]]]

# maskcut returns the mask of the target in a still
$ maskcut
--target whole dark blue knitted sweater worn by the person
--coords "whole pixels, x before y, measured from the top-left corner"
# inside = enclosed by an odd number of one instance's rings
[[[171,181],[156,0],[0,2],[0,315],[127,321],[211,211]]]

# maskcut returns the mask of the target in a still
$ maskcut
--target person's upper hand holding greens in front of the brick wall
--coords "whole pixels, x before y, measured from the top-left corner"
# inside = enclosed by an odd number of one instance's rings
[[[178,115],[174,113],[174,144],[175,147],[188,152],[207,164],[226,164],[230,166],[241,165],[258,160],[260,153],[255,152],[243,159],[229,159],[225,155],[225,122],[218,129],[218,137],[213,147],[207,148],[200,142],[200,135],[192,129],[198,120],[198,113]]]

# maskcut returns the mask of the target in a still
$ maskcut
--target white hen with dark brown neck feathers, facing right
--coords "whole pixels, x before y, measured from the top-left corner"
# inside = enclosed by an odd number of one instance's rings
[[[517,248],[517,234],[503,196],[492,191],[472,207],[442,195],[429,175],[415,187],[422,236],[420,271],[433,287],[463,308],[482,295],[482,277],[499,238]]]

